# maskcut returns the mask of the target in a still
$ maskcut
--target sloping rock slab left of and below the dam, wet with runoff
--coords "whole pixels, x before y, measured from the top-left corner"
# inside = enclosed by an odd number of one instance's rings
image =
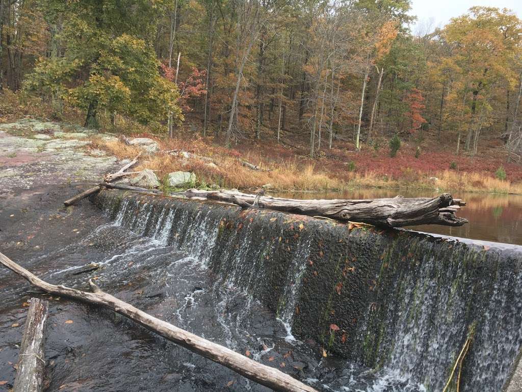
[[[87,200],[64,208],[63,200],[121,163],[91,157],[81,145],[61,144],[71,141],[52,142],[61,147],[0,132],[0,251],[6,256],[52,283],[86,290],[87,280],[98,278],[105,291],[146,312],[319,390],[381,383],[373,375],[350,381],[366,369],[333,356],[322,359],[314,344],[288,342],[273,312],[209,270],[197,253],[164,243],[161,235],[137,235]],[[0,269],[0,381],[5,382],[0,391],[13,386],[25,303],[38,295],[31,291],[26,281]],[[268,390],[121,316],[42,297],[50,302],[46,391]],[[397,388],[406,384],[396,383]]]

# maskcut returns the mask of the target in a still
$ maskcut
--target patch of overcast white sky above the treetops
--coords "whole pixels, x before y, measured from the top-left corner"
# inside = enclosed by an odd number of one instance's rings
[[[475,5],[509,8],[522,18],[522,0],[412,0],[411,4],[410,14],[417,16],[411,28],[413,33],[442,27],[450,18],[464,14]]]

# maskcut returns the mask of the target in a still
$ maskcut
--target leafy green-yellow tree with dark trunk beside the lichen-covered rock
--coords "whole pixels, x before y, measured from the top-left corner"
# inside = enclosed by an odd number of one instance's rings
[[[65,0],[47,0],[60,6]],[[123,4],[122,4],[123,3]],[[104,108],[141,122],[174,113],[176,86],[162,78],[151,44],[164,1],[87,0],[68,3],[60,33],[61,57],[40,57],[26,80],[28,91],[56,94],[87,111],[85,126],[98,127]]]

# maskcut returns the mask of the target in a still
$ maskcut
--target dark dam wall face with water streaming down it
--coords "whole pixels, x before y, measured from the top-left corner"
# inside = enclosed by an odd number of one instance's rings
[[[216,203],[103,191],[118,224],[187,252],[300,339],[442,390],[469,331],[462,391],[501,390],[522,344],[521,247]],[[290,336],[290,334],[289,334]]]

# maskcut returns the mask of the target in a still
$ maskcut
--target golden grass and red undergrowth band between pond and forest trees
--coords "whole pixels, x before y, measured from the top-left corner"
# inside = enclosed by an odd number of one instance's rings
[[[0,103],[0,123],[13,123],[25,117],[52,117],[52,108],[45,104],[37,105],[34,98],[5,90],[3,97],[6,99]],[[66,108],[64,116],[56,121],[74,129],[81,123],[81,116],[80,111]],[[522,194],[522,165],[506,163],[504,149],[495,139],[488,149],[469,156],[462,152],[455,155],[451,148],[437,144],[425,135],[423,140],[418,137],[403,141],[394,157],[390,156],[390,146],[384,138],[376,139],[372,146],[363,145],[361,151],[355,151],[350,141],[339,140],[334,148],[319,151],[312,159],[307,154],[306,141],[298,139],[292,141],[293,146],[277,143],[275,137],[267,137],[263,141],[244,140],[227,148],[215,135],[201,136],[197,128],[199,120],[194,117],[186,121],[177,129],[176,135],[179,136],[171,139],[157,126],[141,125],[123,117],[118,118],[114,125],[109,114],[100,113],[98,131],[100,134],[125,134],[155,140],[159,152],[142,156],[136,170],[154,170],[160,180],[172,171],[192,171],[197,179],[192,185],[199,188],[252,191],[264,187],[295,193],[376,188]],[[31,136],[25,131],[20,134]],[[89,149],[101,149],[120,159],[132,159],[140,151],[137,146],[104,140],[96,135],[90,140]],[[175,152],[188,152],[191,158]],[[243,166],[242,161],[263,170],[252,170]],[[504,179],[498,178],[499,168],[502,168]]]

